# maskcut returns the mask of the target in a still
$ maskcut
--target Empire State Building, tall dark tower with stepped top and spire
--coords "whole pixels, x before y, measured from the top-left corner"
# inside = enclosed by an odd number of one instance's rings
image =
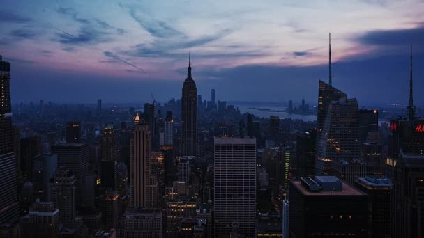
[[[182,147],[183,156],[196,156],[197,146],[197,89],[191,77],[190,55],[188,56],[188,74],[183,85],[181,99]]]

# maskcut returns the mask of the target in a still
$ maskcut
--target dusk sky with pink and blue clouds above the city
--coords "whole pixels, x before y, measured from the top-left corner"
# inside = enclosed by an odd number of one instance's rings
[[[333,85],[360,105],[407,104],[411,44],[414,87],[424,86],[419,1],[105,4],[19,1],[2,10],[1,54],[20,69],[13,103],[178,98],[188,51],[201,95],[214,85],[220,100],[314,102],[318,79],[328,81],[328,32]]]

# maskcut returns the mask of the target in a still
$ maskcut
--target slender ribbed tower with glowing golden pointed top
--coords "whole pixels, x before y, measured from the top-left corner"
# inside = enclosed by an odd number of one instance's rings
[[[154,208],[158,182],[151,176],[151,137],[149,125],[134,120],[134,133],[131,139],[131,206]]]

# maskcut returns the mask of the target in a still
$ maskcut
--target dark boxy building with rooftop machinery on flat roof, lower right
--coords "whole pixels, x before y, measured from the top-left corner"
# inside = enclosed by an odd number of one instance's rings
[[[333,176],[290,181],[290,237],[367,237],[368,196]]]

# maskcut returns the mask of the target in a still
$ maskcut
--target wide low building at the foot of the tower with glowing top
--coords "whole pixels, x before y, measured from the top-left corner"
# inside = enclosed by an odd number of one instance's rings
[[[116,229],[117,238],[162,238],[162,212],[133,209],[123,214]]]

